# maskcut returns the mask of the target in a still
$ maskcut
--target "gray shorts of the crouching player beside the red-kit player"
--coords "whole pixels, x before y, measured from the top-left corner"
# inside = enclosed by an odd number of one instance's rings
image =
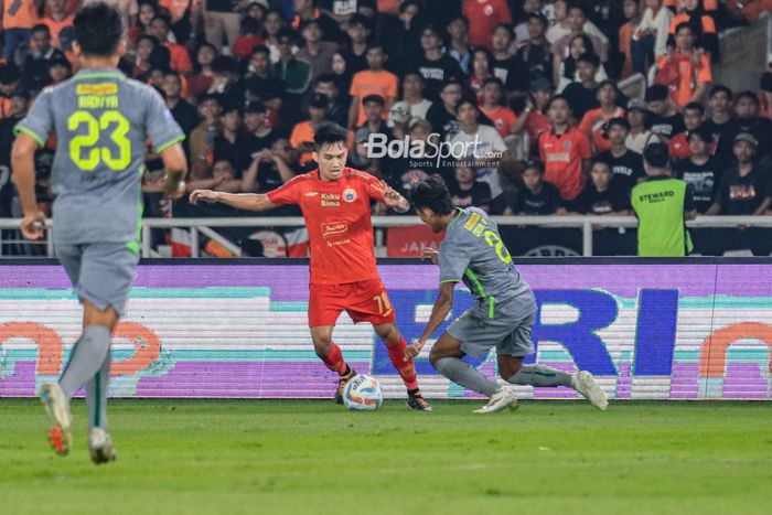
[[[530,333],[536,319],[532,299],[513,299],[495,310],[493,318],[487,310],[472,308],[450,324],[448,334],[460,340],[461,351],[472,357],[482,357],[493,347],[497,355],[528,356],[534,353]]]

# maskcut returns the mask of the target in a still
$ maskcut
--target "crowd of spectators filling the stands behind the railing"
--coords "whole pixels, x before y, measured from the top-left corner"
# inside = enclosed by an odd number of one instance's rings
[[[71,25],[89,1],[2,2],[0,217],[18,215],[13,126],[77,73]],[[334,121],[352,167],[405,195],[442,174],[459,206],[493,214],[629,214],[653,141],[701,214],[770,208],[772,73],[732,92],[711,68],[718,34],[772,0],[107,2],[126,14],[121,69],[153,85],[187,136],[190,190],[270,191],[314,168],[314,130]],[[619,87],[635,73],[653,78],[642,99]],[[440,143],[465,153],[437,159]],[[42,204],[52,152],[37,159]],[[148,216],[222,214],[161,190],[149,153]]]

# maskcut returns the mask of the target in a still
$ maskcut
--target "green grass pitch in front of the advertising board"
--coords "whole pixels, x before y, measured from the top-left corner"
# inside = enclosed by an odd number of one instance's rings
[[[0,400],[3,514],[768,514],[768,403],[118,400],[118,461],[90,463],[85,406],[58,458],[32,399]]]

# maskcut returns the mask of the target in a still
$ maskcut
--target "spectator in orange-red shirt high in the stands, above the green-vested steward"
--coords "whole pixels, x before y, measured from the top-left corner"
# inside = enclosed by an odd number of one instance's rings
[[[712,75],[707,54],[695,49],[691,25],[679,24],[675,34],[676,47],[657,60],[654,82],[666,85],[676,105],[684,107],[690,101],[705,99]]]

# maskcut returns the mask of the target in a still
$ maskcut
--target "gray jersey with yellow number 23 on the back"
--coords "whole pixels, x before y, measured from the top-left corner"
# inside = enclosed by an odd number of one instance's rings
[[[160,152],[184,139],[152,87],[116,68],[86,69],[44,89],[15,130],[41,147],[56,136],[56,244],[126,243],[138,249],[146,141]]]

